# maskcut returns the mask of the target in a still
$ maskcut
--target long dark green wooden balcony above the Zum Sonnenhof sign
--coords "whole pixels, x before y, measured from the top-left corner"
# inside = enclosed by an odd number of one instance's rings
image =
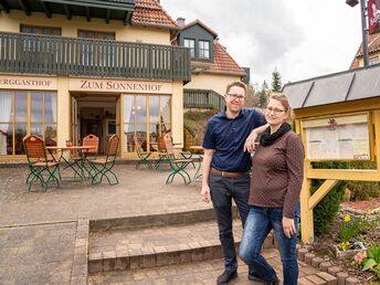
[[[190,81],[190,52],[171,45],[0,32],[0,72]]]

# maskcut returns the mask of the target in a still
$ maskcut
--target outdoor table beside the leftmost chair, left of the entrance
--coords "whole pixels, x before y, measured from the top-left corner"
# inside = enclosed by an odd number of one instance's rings
[[[89,150],[89,149],[93,149],[93,148],[96,148],[95,146],[71,146],[71,147],[46,147],[46,150],[50,152],[50,155],[52,156],[53,160],[55,160],[54,156],[52,155],[52,151],[53,150],[56,150],[56,151],[61,151],[61,156],[59,157],[59,160],[57,162],[61,163],[62,161],[66,165],[65,168],[71,168],[73,171],[74,171],[74,180],[75,180],[75,177],[78,176],[81,181],[83,180],[84,178],[84,171],[83,169],[86,169],[84,167],[84,155],[83,155],[83,151],[84,150]],[[80,157],[81,157],[81,161],[80,162],[70,162],[63,155],[64,151],[78,151],[80,152]],[[75,168],[75,166],[77,167],[77,169]],[[86,169],[86,171],[88,172],[88,170]],[[91,175],[88,172],[88,175]]]

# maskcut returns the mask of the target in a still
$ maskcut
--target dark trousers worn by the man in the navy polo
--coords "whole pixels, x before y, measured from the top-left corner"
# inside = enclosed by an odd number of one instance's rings
[[[238,268],[236,251],[232,233],[232,199],[238,205],[244,228],[250,209],[247,205],[250,183],[251,178],[249,176],[229,178],[213,173],[210,175],[209,186],[211,189],[211,200],[217,213],[219,239],[223,249],[224,267],[228,271]]]

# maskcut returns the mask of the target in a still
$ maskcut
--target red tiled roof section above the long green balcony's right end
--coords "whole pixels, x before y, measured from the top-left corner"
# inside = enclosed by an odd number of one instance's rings
[[[179,29],[157,0],[136,0],[131,24]]]

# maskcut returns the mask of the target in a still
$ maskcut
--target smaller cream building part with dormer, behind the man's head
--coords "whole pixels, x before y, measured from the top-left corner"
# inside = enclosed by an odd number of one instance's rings
[[[200,20],[188,24],[177,19],[180,30],[175,44],[190,49],[191,82],[184,85],[187,108],[222,108],[225,86],[249,75],[219,42],[218,33]],[[246,77],[249,81],[249,76]]]

